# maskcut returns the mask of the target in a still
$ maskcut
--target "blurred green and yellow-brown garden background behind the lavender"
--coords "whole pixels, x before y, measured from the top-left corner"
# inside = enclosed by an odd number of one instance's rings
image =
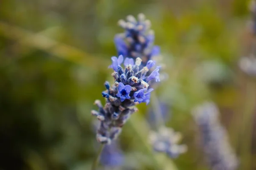
[[[252,38],[248,3],[0,0],[0,169],[90,169],[99,147],[90,111],[94,100],[104,101],[105,80],[113,82],[113,37],[123,31],[117,21],[139,13],[151,20],[168,75],[154,95],[188,152],[155,156],[147,142],[152,106],[141,104],[119,137],[116,170],[153,170],[155,159],[166,170],[208,170],[191,116],[205,100],[218,105],[241,170],[256,169],[255,83],[238,67]]]

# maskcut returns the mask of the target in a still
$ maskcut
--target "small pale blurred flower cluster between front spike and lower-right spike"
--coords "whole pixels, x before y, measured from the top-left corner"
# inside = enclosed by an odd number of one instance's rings
[[[166,153],[171,158],[177,158],[181,153],[187,151],[185,144],[178,144],[181,134],[172,128],[160,127],[159,132],[151,132],[149,141],[157,152]]]

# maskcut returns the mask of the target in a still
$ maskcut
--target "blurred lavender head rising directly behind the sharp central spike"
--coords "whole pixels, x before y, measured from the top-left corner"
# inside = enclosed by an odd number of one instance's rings
[[[142,59],[141,67],[154,56],[159,55],[160,48],[154,45],[154,31],[150,30],[151,23],[145,20],[144,14],[139,14],[136,19],[132,15],[127,16],[127,21],[119,20],[119,26],[125,29],[125,33],[117,34],[114,38],[118,55]]]

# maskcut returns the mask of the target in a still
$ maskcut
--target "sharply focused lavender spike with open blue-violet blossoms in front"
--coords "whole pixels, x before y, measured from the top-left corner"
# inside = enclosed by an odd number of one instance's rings
[[[160,67],[156,67],[149,76],[145,76],[154,66],[155,62],[152,60],[140,69],[142,60],[139,57],[135,63],[132,59],[126,58],[123,63],[125,69],[123,69],[121,67],[124,60],[122,55],[111,59],[113,63],[109,67],[114,70],[112,76],[115,83],[111,86],[109,82],[105,82],[107,90],[102,92],[102,96],[106,98],[105,107],[99,100],[96,100],[95,104],[99,107],[99,111],[91,112],[100,120],[96,138],[103,144],[110,144],[111,140],[116,139],[129,116],[137,111],[137,108],[132,108],[132,106],[150,102],[150,93],[153,88],[148,89],[148,82],[160,81],[158,73]]]

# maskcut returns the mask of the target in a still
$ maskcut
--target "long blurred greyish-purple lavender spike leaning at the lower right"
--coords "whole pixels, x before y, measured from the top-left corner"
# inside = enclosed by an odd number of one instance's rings
[[[213,170],[236,170],[238,160],[228,142],[227,132],[218,120],[218,109],[212,102],[196,107],[192,114],[198,124],[204,152]]]

